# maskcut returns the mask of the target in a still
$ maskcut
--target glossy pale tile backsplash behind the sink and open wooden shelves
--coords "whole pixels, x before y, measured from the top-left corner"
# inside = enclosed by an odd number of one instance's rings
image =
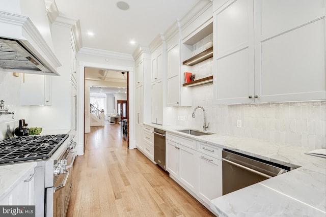
[[[212,74],[212,58],[193,67],[196,77]],[[326,101],[284,102],[240,105],[218,105],[214,103],[213,85],[192,87],[192,107],[178,108],[178,115],[185,121],[178,125],[202,130],[203,111],[206,111],[208,131],[243,138],[255,138],[280,144],[291,144],[309,148],[326,148]],[[237,120],[242,127],[237,128]]]

